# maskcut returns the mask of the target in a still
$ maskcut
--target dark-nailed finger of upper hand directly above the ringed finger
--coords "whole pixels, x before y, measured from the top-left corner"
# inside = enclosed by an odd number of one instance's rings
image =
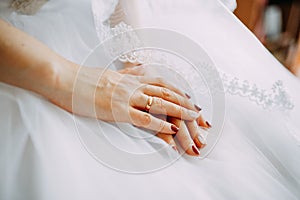
[[[143,88],[143,92],[148,96],[160,97],[162,99],[183,106],[187,109],[194,110],[196,112],[199,112],[201,110],[201,108],[194,105],[187,97],[183,97],[168,88],[154,86],[154,85],[146,85]]]

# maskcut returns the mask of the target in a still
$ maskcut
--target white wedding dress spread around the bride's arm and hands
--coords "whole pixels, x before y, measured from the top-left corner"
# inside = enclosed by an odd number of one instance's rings
[[[226,115],[205,158],[178,156],[131,125],[73,116],[0,83],[0,199],[300,199],[299,80],[219,1],[50,0],[33,15],[10,5],[0,3],[3,19],[76,63],[125,22],[185,35],[218,69]],[[118,6],[124,23],[109,20]],[[191,68],[180,70],[198,86]]]

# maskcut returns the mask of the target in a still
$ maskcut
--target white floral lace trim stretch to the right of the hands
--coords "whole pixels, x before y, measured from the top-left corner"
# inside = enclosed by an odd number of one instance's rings
[[[262,89],[255,83],[251,83],[248,80],[241,80],[220,69],[218,69],[218,72],[211,70],[211,64],[198,63],[197,66],[201,68],[200,70],[205,74],[208,84],[211,85],[211,88],[214,90],[213,92],[222,92],[222,90],[224,90],[223,92],[230,95],[246,97],[250,101],[268,110],[278,109],[287,111],[294,108],[294,103],[288,95],[282,80],[275,81],[270,89]],[[192,76],[193,75],[191,75],[191,78],[193,78]],[[220,80],[222,80],[223,88],[220,87]],[[204,93],[207,88],[203,86],[201,89]]]

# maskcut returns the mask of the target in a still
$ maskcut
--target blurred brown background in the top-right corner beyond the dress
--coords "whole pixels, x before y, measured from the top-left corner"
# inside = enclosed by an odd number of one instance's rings
[[[237,0],[234,14],[300,77],[300,0]]]

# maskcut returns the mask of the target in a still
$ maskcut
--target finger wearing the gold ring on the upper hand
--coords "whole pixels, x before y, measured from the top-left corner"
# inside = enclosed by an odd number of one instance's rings
[[[188,110],[172,102],[163,100],[158,97],[149,97],[144,94],[141,94],[139,97],[133,97],[131,99],[131,104],[135,108],[145,110],[148,98],[153,98],[152,105],[149,110],[149,112],[152,114],[162,114],[184,120],[195,120],[200,115],[195,111]]]

